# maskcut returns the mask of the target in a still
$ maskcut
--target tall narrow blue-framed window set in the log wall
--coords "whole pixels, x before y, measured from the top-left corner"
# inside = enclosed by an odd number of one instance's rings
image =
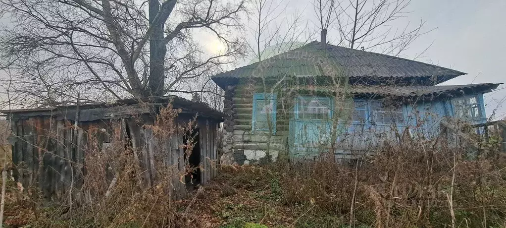
[[[276,133],[276,94],[256,93],[253,97],[252,130]]]

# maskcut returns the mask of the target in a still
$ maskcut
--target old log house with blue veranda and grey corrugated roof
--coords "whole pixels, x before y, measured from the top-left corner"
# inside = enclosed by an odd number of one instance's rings
[[[483,94],[499,84],[438,85],[466,73],[320,42],[219,73],[225,91],[222,162],[350,158],[385,140],[436,137],[443,117],[486,122]]]

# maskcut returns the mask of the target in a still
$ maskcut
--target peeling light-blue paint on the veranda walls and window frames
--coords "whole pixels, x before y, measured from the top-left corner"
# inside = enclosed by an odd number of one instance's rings
[[[452,101],[455,99],[469,99],[470,97],[476,97],[477,105],[480,111],[480,117],[473,118],[470,121],[472,124],[485,123],[486,113],[483,103],[483,94],[473,94],[463,97],[455,97],[451,99],[434,100],[432,102],[417,102],[413,104],[400,105],[398,111],[401,112],[401,117],[392,119],[392,121],[384,121],[384,123],[378,122],[377,114],[384,111],[381,106],[377,103],[382,102],[381,100],[368,100],[368,99],[354,99],[353,111],[356,115],[352,115],[349,121],[340,122],[338,132],[338,144],[345,137],[349,135],[359,135],[357,132],[371,131],[371,132],[386,132],[390,133],[390,136],[394,134],[402,134],[406,129],[410,131],[410,134],[417,133],[427,138],[436,137],[440,133],[440,122],[444,117],[454,117],[455,110]],[[294,106],[294,117],[290,120],[289,125],[289,147],[291,155],[294,157],[301,156],[314,156],[317,155],[321,146],[318,143],[323,141],[330,143],[330,132],[331,132],[331,120],[323,119],[305,119],[301,118],[299,100],[300,99],[317,99],[322,103],[329,104],[328,116],[332,116],[332,99],[330,97],[298,97],[296,98]],[[395,109],[394,109],[395,110]],[[384,116],[382,116],[385,118]],[[385,119],[383,119],[385,120]],[[397,121],[396,121],[397,120]],[[387,123],[385,123],[387,122]],[[391,123],[392,122],[392,123]],[[388,132],[390,131],[390,132]],[[393,132],[397,131],[397,132]],[[417,132],[415,132],[417,131]],[[370,135],[369,135],[370,136]],[[356,138],[358,141],[365,140],[364,138]],[[362,143],[362,142],[360,142]],[[368,142],[366,142],[368,143]]]

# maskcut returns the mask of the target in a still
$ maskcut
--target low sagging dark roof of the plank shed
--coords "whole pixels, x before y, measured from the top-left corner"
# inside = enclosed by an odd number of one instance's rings
[[[135,113],[149,113],[153,111],[153,105],[173,104],[174,108],[180,108],[182,113],[198,114],[200,116],[221,121],[226,115],[217,111],[203,102],[190,101],[178,96],[151,97],[145,99],[122,99],[113,103],[87,103],[79,106],[79,121],[93,121],[99,119],[119,118]],[[148,105],[142,105],[142,104]],[[65,117],[74,118],[75,114],[70,112],[76,109],[77,105],[61,105],[56,107],[25,108],[0,110],[4,114],[16,114],[19,116],[50,116],[55,112],[64,112]],[[92,111],[92,109],[100,109]]]

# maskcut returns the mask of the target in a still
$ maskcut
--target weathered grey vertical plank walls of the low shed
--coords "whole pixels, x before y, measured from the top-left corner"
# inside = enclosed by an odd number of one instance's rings
[[[199,119],[198,124],[201,183],[207,184],[217,175],[214,164],[217,161],[218,128],[217,122],[213,120]],[[145,187],[152,186],[156,181],[156,165],[164,164],[173,174],[182,173],[185,169],[184,150],[180,146],[183,144],[184,132],[176,132],[170,139],[159,142],[152,129],[138,126],[132,118],[79,122],[77,130],[74,130],[73,123],[67,120],[40,116],[14,119],[11,127],[16,135],[12,144],[16,181],[21,182],[25,188],[36,183],[44,197],[53,201],[69,199],[69,192],[72,192],[72,200],[84,198],[80,189],[86,173],[86,155],[93,153],[97,145],[102,150],[104,143],[111,142],[110,136],[115,128],[121,130],[121,137],[131,137],[134,156],[138,158],[141,169],[146,171],[143,172]],[[93,140],[88,134],[91,128],[98,129],[93,136],[96,139]],[[174,198],[185,197],[187,191],[184,177],[173,175],[171,190],[170,194]]]

